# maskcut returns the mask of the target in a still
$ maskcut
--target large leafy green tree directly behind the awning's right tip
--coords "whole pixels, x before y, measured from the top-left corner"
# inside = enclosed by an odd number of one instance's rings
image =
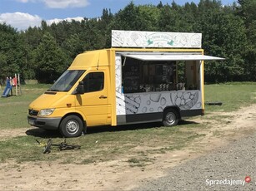
[[[241,18],[225,12],[206,12],[198,23],[205,53],[223,56],[205,66],[206,81],[238,81],[244,72],[243,50],[247,44]]]

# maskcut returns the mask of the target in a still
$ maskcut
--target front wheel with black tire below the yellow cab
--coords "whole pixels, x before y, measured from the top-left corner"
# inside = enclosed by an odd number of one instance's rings
[[[83,121],[76,115],[68,115],[60,123],[59,130],[64,137],[78,137],[82,135]]]

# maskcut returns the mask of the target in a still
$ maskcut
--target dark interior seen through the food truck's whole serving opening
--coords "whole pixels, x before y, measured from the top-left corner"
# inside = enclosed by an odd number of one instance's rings
[[[122,57],[123,93],[200,90],[200,61]]]

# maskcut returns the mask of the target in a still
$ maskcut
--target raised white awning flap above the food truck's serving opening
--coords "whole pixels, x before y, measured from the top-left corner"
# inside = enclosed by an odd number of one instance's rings
[[[207,55],[193,55],[193,54],[122,54],[123,56],[134,58],[141,61],[213,61],[225,60],[222,57],[207,56]]]

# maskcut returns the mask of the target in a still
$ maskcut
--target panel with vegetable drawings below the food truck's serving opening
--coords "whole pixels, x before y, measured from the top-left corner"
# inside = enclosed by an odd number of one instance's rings
[[[202,109],[200,91],[163,91],[117,96],[117,115],[163,112],[167,106],[180,110]]]

